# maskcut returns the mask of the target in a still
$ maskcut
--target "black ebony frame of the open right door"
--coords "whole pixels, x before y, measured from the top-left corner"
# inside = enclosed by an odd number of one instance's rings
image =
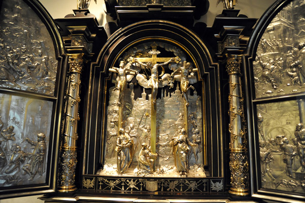
[[[260,164],[260,154],[259,154],[259,134],[258,134],[258,124],[257,124],[257,105],[276,103],[287,100],[296,100],[304,98],[305,92],[300,93],[287,93],[284,95],[267,96],[267,97],[255,97],[255,87],[254,87],[254,74],[253,74],[253,61],[255,60],[258,44],[263,36],[267,26],[270,24],[273,18],[289,3],[293,0],[278,0],[273,5],[271,5],[266,12],[259,19],[256,24],[254,31],[249,39],[249,44],[246,50],[246,54],[243,56],[243,72],[245,76],[243,81],[245,81],[245,98],[247,101],[247,122],[248,122],[248,140],[249,140],[249,157],[254,157],[250,159],[250,186],[251,195],[255,198],[270,199],[277,201],[290,202],[291,199],[304,200],[305,195],[301,196],[299,193],[285,192],[283,190],[266,189],[261,187],[261,164]],[[287,198],[288,197],[288,198]],[[289,199],[290,198],[290,199]]]

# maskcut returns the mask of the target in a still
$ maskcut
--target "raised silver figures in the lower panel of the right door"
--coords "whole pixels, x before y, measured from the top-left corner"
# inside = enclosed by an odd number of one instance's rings
[[[305,128],[302,123],[296,125],[294,136],[289,143],[286,133],[278,134],[275,138],[266,138],[263,132],[263,116],[258,114],[258,129],[260,133],[260,160],[261,180],[263,187],[273,189],[289,188],[296,191],[298,188],[305,190]],[[275,157],[276,163],[275,162]],[[285,164],[285,175],[281,170],[272,165]],[[278,170],[279,172],[276,172]],[[271,185],[269,185],[271,184]],[[269,186],[268,186],[269,185]]]

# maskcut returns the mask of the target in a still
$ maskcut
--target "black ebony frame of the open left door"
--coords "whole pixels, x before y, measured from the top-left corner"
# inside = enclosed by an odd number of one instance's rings
[[[58,146],[60,127],[62,120],[62,110],[64,101],[64,89],[66,86],[65,76],[67,69],[67,58],[64,53],[64,43],[59,35],[57,26],[53,22],[50,14],[45,10],[42,4],[36,0],[24,0],[24,2],[38,15],[41,21],[46,26],[49,35],[52,39],[52,44],[55,50],[55,57],[57,60],[57,74],[56,84],[54,88],[54,95],[49,96],[45,94],[15,90],[9,88],[0,88],[0,93],[18,95],[23,97],[35,98],[40,100],[52,101],[52,116],[49,136],[49,148],[47,157],[47,169],[45,184],[31,184],[21,186],[8,186],[0,188],[0,198],[9,198],[14,196],[25,196],[33,194],[45,194],[54,192],[56,189],[57,180],[57,160],[58,160]],[[2,1],[0,2],[0,8]],[[14,5],[12,5],[14,6]]]

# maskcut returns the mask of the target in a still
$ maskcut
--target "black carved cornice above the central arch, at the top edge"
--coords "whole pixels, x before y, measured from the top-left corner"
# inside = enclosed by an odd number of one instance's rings
[[[199,19],[209,7],[208,0],[105,0],[106,13],[119,22],[139,20],[189,21]],[[190,22],[190,21],[189,21]],[[126,23],[123,23],[126,24]]]

